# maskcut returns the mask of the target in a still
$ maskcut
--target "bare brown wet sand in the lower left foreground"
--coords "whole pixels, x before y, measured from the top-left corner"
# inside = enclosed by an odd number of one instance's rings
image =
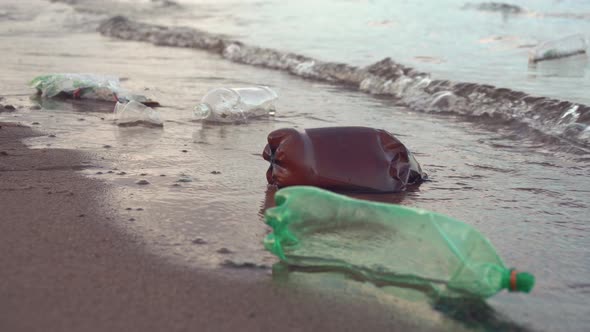
[[[409,331],[385,305],[172,265],[119,232],[99,157],[0,123],[1,331]],[[224,273],[225,273],[224,272]]]

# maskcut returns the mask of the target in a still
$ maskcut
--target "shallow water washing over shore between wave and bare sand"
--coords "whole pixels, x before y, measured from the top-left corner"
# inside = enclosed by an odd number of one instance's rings
[[[96,17],[65,5],[30,0],[2,3],[0,11],[13,17],[0,21],[0,95],[6,99],[0,103],[26,106],[0,113],[0,121],[37,122],[34,127],[56,136],[27,140],[34,148],[75,148],[104,157],[104,168],[84,172],[114,184],[122,216],[117,225],[141,235],[154,252],[203,268],[266,271],[276,262],[261,245],[269,231],[262,211],[272,205],[273,193],[260,156],[266,135],[282,127],[375,126],[414,151],[432,181],[417,191],[367,198],[464,220],[490,238],[508,265],[533,272],[538,283],[532,294],[489,301],[518,324],[575,331],[590,323],[587,154],[561,152],[563,146],[502,123],[413,112],[390,99],[203,51],[101,37],[92,32]],[[164,105],[158,109],[164,128],[117,127],[110,104],[30,99],[30,78],[71,71],[125,77],[124,87]],[[192,120],[191,108],[208,89],[255,84],[278,92],[275,118],[224,126]],[[41,110],[28,107],[37,103]]]

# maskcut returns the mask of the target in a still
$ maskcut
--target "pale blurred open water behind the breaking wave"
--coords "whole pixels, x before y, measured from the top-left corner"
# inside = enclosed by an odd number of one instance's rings
[[[225,33],[254,45],[367,65],[392,57],[436,79],[476,82],[590,104],[586,56],[529,65],[535,45],[590,37],[590,2],[184,0],[185,10],[150,18]]]

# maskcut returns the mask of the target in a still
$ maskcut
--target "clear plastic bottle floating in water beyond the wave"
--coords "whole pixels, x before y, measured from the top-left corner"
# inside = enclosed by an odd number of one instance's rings
[[[582,35],[571,35],[539,44],[529,51],[529,62],[554,60],[586,53],[588,44]]]

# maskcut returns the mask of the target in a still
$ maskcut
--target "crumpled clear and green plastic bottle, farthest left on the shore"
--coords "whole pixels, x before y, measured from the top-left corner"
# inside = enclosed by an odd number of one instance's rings
[[[135,95],[121,88],[119,79],[95,74],[49,74],[35,77],[30,86],[45,98],[64,96],[74,99],[96,99],[105,101],[137,101],[148,106],[158,102],[146,96]]]

